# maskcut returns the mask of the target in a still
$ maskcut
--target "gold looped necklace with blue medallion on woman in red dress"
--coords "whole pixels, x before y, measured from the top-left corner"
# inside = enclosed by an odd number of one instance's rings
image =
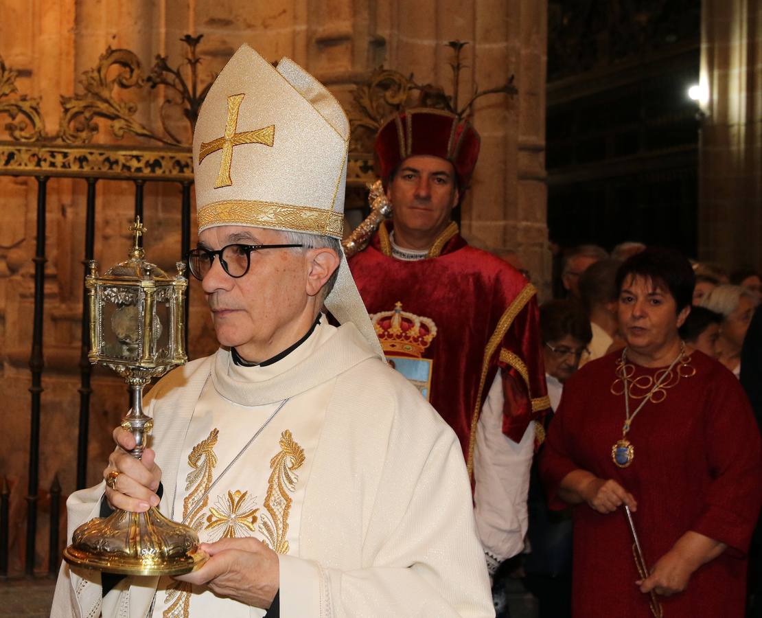
[[[611,459],[620,468],[626,468],[635,459],[635,447],[626,439],[626,436],[638,412],[648,402],[658,404],[667,399],[667,389],[677,385],[680,382],[680,378],[687,378],[696,374],[695,367],[689,364],[690,357],[687,357],[685,354],[685,344],[683,341],[680,341],[680,352],[670,363],[669,367],[658,370],[654,376],[638,376],[633,379],[635,365],[626,363],[626,355],[627,348],[622,351],[622,357],[619,363],[616,364],[617,379],[611,385],[611,392],[614,395],[624,394],[625,421],[622,427],[622,439],[616,440],[613,447],[611,447]],[[680,366],[677,367],[677,370],[674,370],[678,362]],[[630,397],[632,399],[642,399],[642,402],[640,402],[640,405],[638,405],[632,414],[629,413]]]

